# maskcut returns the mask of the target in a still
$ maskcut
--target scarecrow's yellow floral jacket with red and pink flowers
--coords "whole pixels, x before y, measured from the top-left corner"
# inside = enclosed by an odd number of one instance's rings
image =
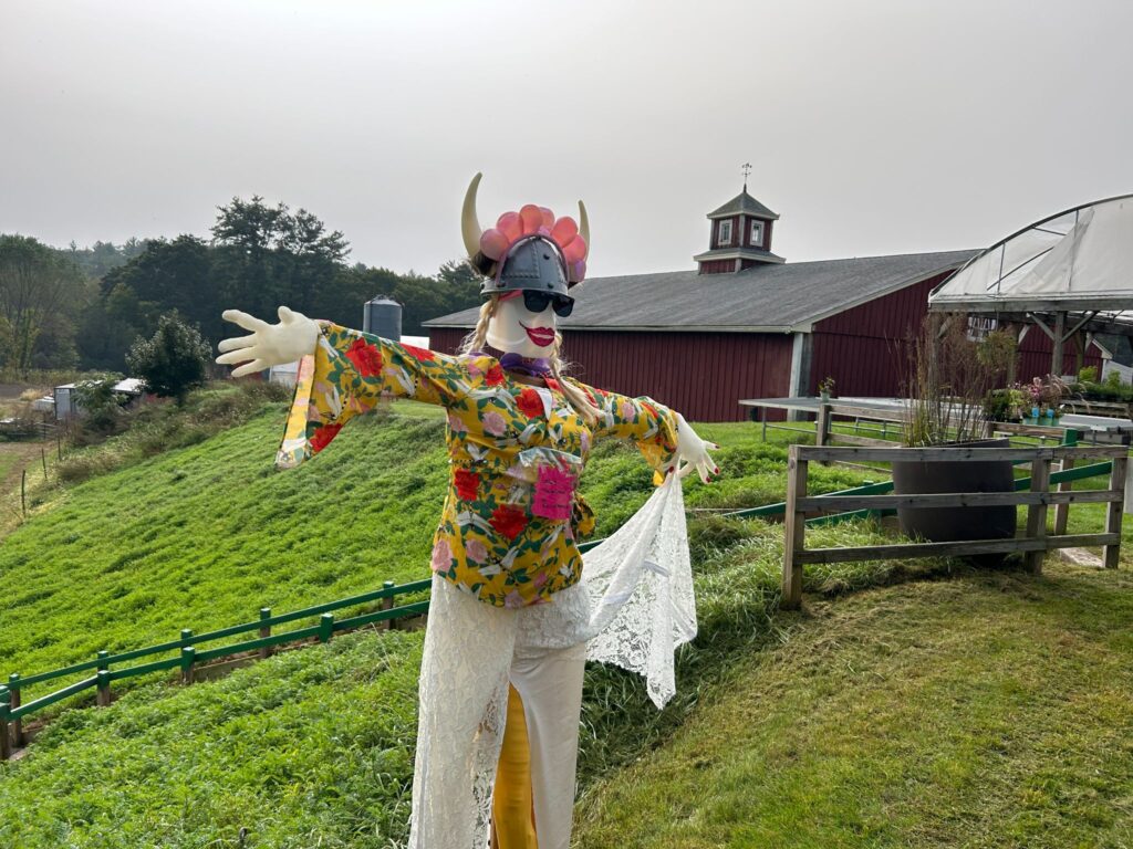
[[[443,404],[451,477],[433,571],[499,607],[540,603],[581,576],[576,534],[594,515],[576,491],[593,439],[634,441],[659,470],[676,417],[649,398],[574,381],[600,411],[588,427],[559,391],[512,380],[487,354],[449,357],[330,323],[299,368],[276,465],[298,465],[381,397]]]

